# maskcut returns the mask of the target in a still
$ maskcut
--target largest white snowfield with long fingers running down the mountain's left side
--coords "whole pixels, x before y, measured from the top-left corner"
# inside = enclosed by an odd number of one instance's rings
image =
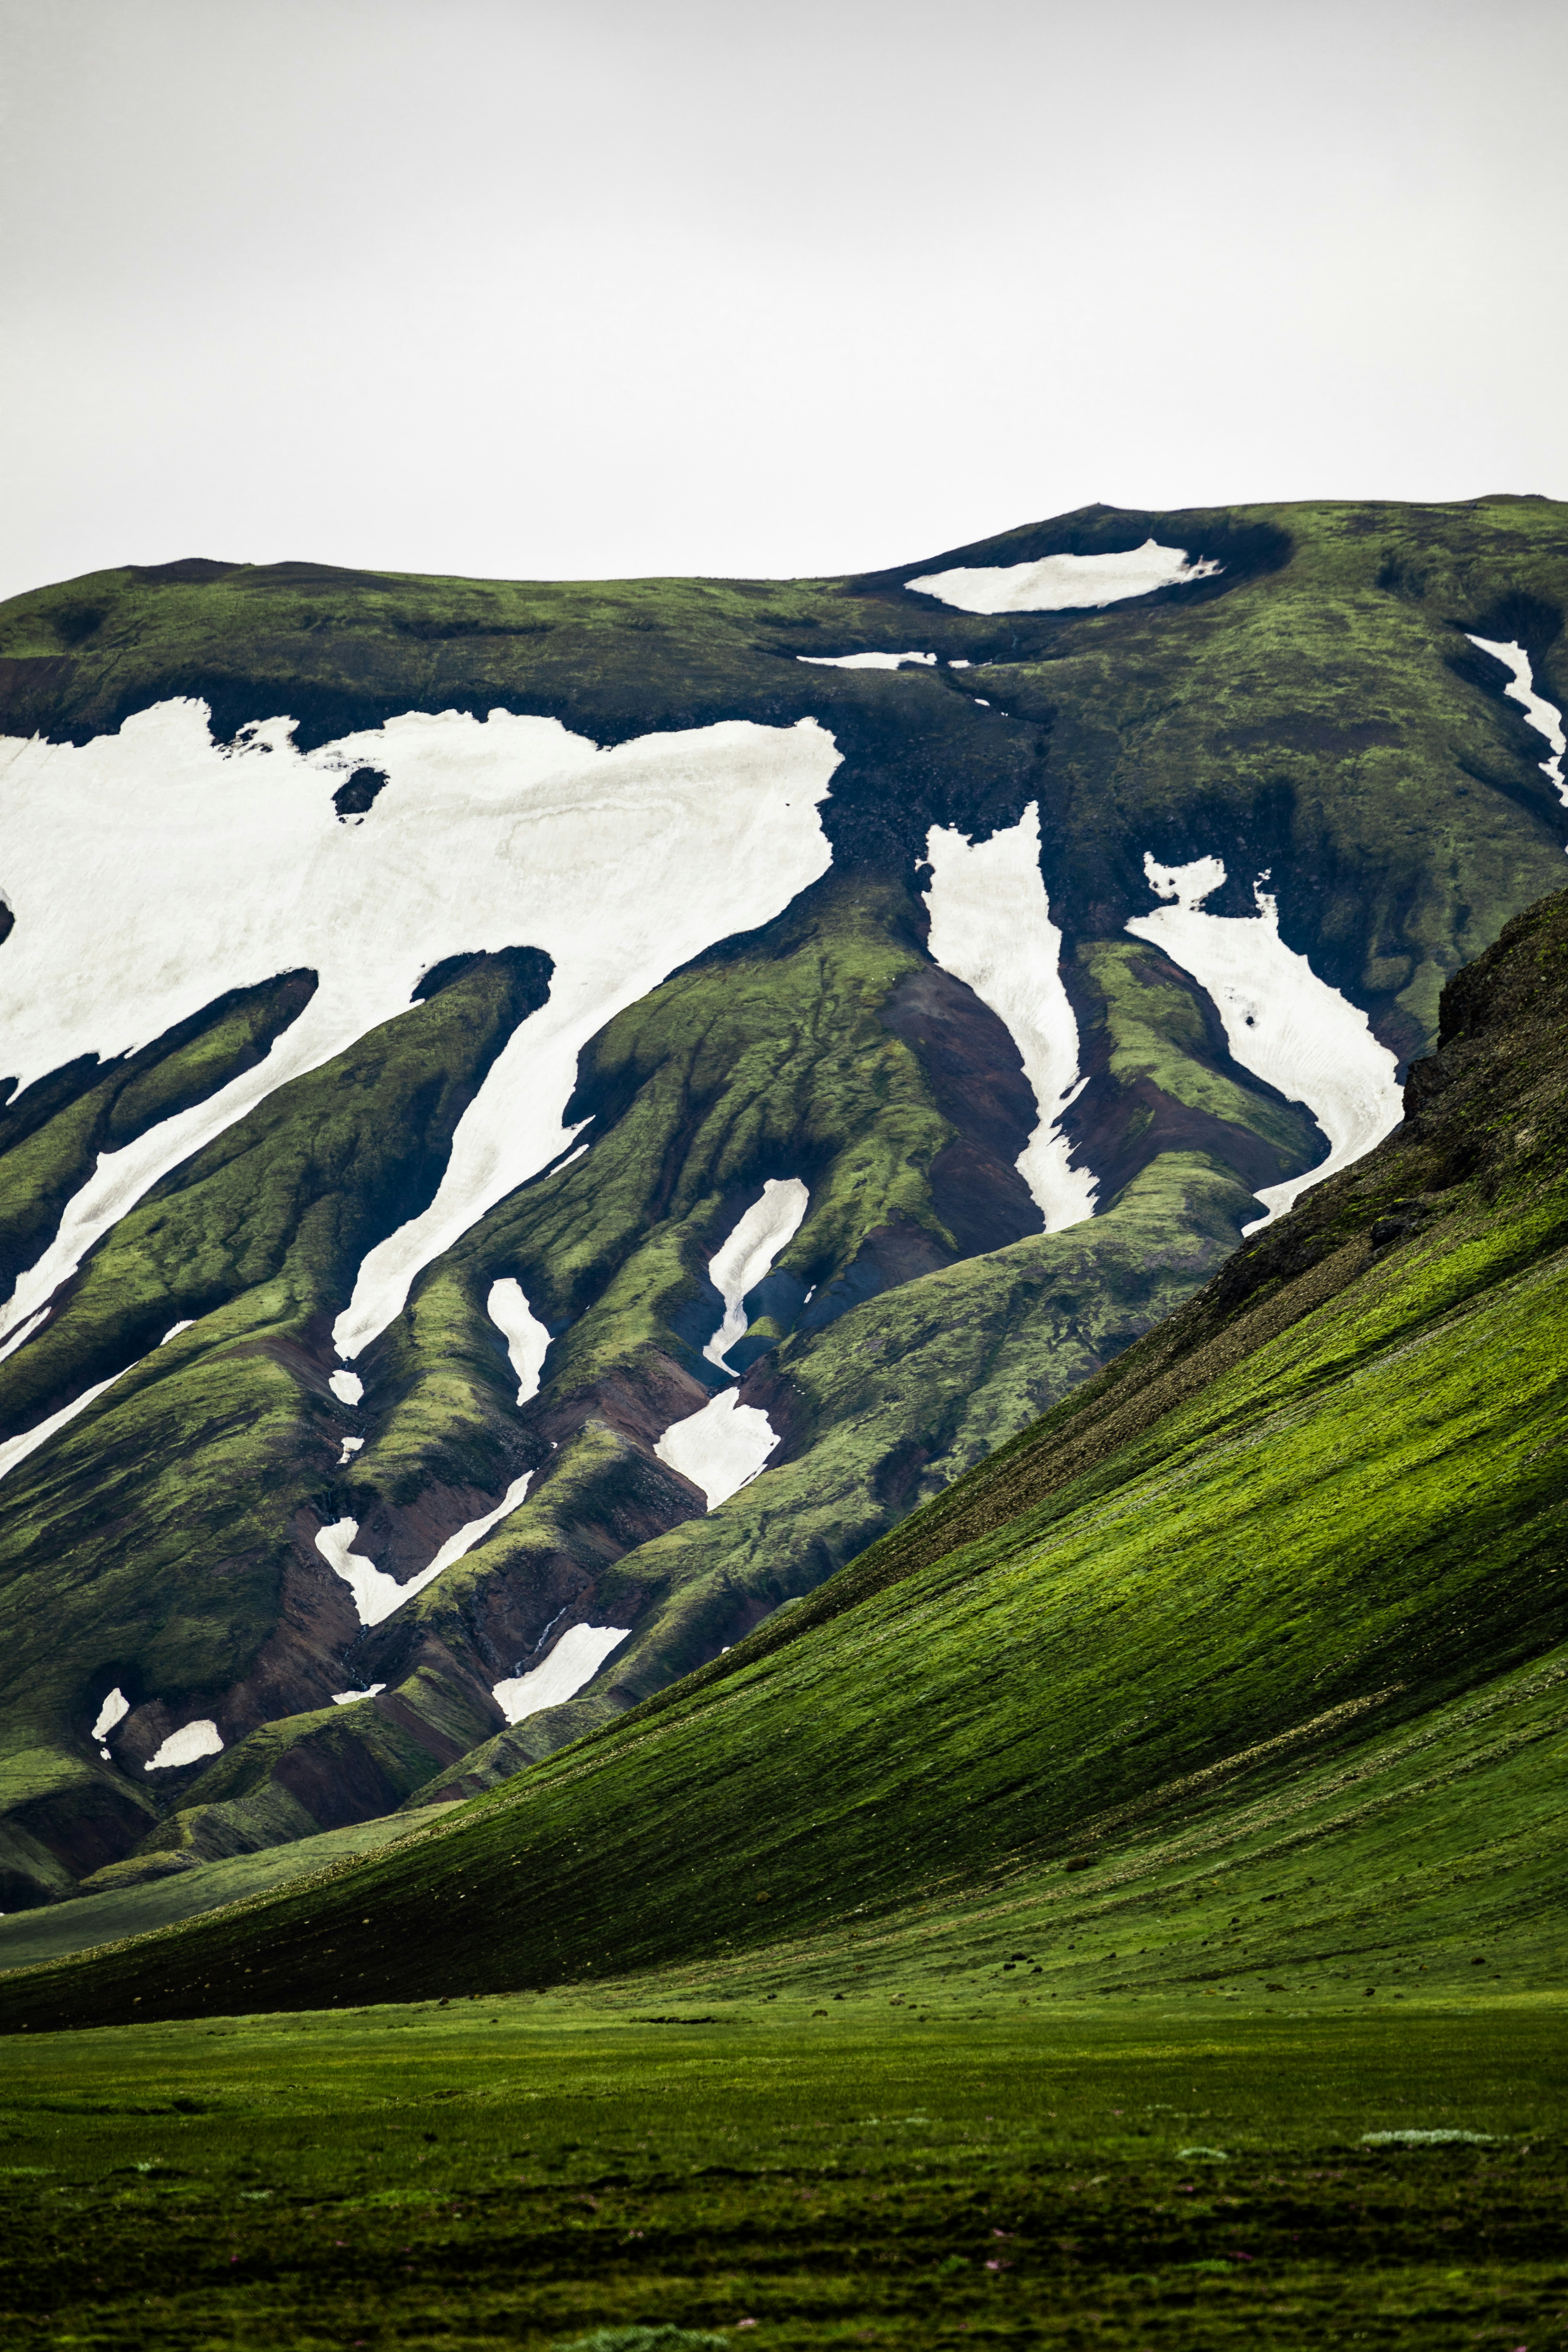
[[[423,1216],[381,1242],[339,1317],[353,1359],[409,1282],[569,1150],[583,1044],[672,969],[769,922],[832,863],[816,720],[639,736],[602,750],[559,720],[404,713],[301,755],[287,717],[212,741],[167,701],[92,743],[0,739],[0,1068],[19,1087],[78,1054],[129,1054],[228,988],[310,969],[317,990],[252,1070],[103,1152],[0,1315],[38,1315],[143,1192],[284,1082],[411,1011],[449,955],[536,946],[548,1002],[491,1063]],[[341,826],[334,786],[388,783]]]

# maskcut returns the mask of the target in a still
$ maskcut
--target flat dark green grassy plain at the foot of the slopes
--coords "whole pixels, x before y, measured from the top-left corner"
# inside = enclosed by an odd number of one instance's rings
[[[621,1983],[0,2065],[7,2345],[1568,2343],[1552,1994],[922,2020]]]

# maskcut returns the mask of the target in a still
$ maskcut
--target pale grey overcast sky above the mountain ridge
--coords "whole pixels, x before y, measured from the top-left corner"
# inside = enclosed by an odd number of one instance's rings
[[[1568,496],[1561,0],[0,0],[0,595]]]

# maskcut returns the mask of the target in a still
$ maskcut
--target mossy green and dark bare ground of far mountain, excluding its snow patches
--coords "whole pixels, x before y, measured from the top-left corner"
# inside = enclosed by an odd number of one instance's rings
[[[1147,536],[1220,569],[1105,612],[999,619],[903,586],[954,560]],[[195,694],[219,736],[287,713],[315,746],[404,710],[505,706],[602,743],[818,717],[842,753],[823,804],[832,870],[604,1028],[571,1105],[585,1157],[425,1270],[355,1367],[360,1409],[327,1395],[331,1319],[364,1249],[430,1197],[531,1002],[527,948],[487,978],[458,974],[176,1169],[0,1364],[0,1437],[120,1374],[0,1489],[7,1900],[68,1893],[143,1844],[233,1853],[487,1785],[741,1656],[769,1611],[954,1479],[952,1508],[980,1508],[964,1472],[999,1449],[1023,1475],[1044,1439],[1006,1449],[1114,1357],[1128,1378],[1121,1352],[1227,1258],[1255,1188],[1324,1148],[1300,1103],[1229,1056],[1208,995],[1126,936],[1150,906],[1145,854],[1220,856],[1222,913],[1248,913],[1267,868],[1286,941],[1394,1054],[1420,1054],[1443,978],[1559,884],[1568,840],[1544,746],[1467,633],[1519,640],[1566,703],[1566,604],[1563,508],[1483,499],[1091,508],[856,581],[190,562],[2,607],[12,736],[85,741]],[[797,659],[910,647],[943,661]],[[1086,1075],[1067,1131],[1100,1183],[1100,1214],[1051,1237],[1016,1171],[1034,1120],[1016,1042],[933,967],[919,870],[933,823],[983,837],[1030,802]],[[2,983],[5,946],[0,1068]],[[263,1054],[308,985],[193,1007],[134,1063],[73,1065],[0,1112],[0,1254],[26,1263],[92,1155]],[[705,1512],[654,1449],[715,1385],[708,1258],[769,1176],[811,1185],[736,1352],[778,1449]],[[496,1279],[517,1279],[552,1334],[524,1409],[487,1312]],[[186,1317],[195,1329],[158,1348]],[[1105,1411],[1091,1397],[1074,1430]],[[362,1439],[353,1458],[343,1437]],[[409,1578],[522,1470],[527,1503],[484,1543],[386,1625],[357,1623],[317,1526],[353,1517],[362,1550]],[[1013,1486],[985,1491],[1011,1515]],[[578,1698],[505,1731],[494,1682],[583,1621],[630,1637]],[[374,1700],[322,1712],[371,1682]],[[106,1764],[87,1731],[110,1686],[136,1719]],[[195,1715],[228,1752],[143,1773]]]

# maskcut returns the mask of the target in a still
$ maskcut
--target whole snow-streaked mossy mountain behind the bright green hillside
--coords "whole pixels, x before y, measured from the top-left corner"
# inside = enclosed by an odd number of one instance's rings
[[[1481,499],[0,607],[0,1903],[795,1653],[1316,1232],[1561,884],[1566,597]]]

